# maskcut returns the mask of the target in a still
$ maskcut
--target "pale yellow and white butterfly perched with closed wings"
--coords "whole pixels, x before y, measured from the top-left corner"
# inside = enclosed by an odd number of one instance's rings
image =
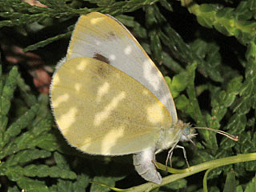
[[[134,154],[135,170],[150,182],[162,182],[155,154],[170,149],[171,156],[179,141],[195,135],[178,120],[154,62],[110,15],[93,12],[78,19],[50,98],[58,128],[71,146],[88,154]]]

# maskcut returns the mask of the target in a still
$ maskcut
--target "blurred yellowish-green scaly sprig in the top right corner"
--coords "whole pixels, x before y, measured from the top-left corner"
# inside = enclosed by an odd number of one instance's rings
[[[184,6],[187,6],[187,2],[182,1]],[[237,10],[233,8],[222,8],[218,5],[196,3],[193,6],[188,6],[191,13],[195,14],[198,19],[198,23],[208,28],[214,28],[225,34],[226,36],[235,36],[242,44],[246,45],[251,41],[254,41],[256,34],[256,23],[251,22],[251,12],[245,7],[246,2],[241,2]],[[237,18],[235,18],[237,15]],[[238,19],[245,20],[238,20]]]

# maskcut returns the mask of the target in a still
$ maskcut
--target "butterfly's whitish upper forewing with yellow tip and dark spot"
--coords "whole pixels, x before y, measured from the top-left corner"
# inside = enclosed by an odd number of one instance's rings
[[[173,122],[177,122],[174,101],[161,72],[117,19],[97,12],[78,19],[66,59],[85,57],[107,62],[142,83],[166,106]]]

